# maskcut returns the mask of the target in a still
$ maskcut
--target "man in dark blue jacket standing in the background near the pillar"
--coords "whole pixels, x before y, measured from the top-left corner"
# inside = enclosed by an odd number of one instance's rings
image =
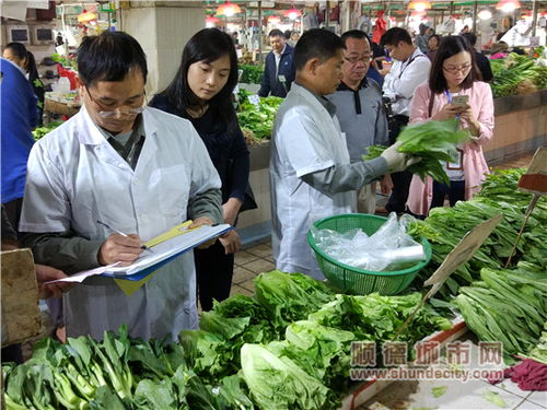
[[[283,32],[278,28],[274,28],[268,37],[272,50],[266,56],[258,95],[267,97],[271,93],[277,97],[286,97],[294,81],[293,48],[286,44]]]

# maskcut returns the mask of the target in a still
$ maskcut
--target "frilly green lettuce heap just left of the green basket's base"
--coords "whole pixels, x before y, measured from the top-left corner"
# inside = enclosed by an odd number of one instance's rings
[[[324,282],[280,270],[260,273],[255,279],[255,292],[257,302],[281,332],[335,298],[335,292]]]

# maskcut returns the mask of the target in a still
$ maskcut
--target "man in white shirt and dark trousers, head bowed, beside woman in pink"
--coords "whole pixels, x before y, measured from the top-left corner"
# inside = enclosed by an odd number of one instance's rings
[[[382,45],[395,60],[391,68],[384,68],[382,92],[389,102],[393,116],[389,118],[389,143],[397,139],[408,124],[410,99],[418,85],[427,81],[431,61],[412,44],[408,32],[400,27],[389,28],[382,36]],[[393,190],[385,206],[388,212],[405,212],[408,188],[412,174],[408,171],[392,174]]]

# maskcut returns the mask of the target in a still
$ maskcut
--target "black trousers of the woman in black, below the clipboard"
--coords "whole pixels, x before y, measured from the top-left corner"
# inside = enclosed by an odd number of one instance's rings
[[[195,249],[196,276],[199,303],[202,311],[212,308],[212,301],[230,296],[234,273],[234,255],[225,255],[224,247],[217,241],[207,249]]]

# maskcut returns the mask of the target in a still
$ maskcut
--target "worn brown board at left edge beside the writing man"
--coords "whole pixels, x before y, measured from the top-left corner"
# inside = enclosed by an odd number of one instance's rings
[[[0,254],[2,276],[2,348],[39,331],[38,284],[31,249]]]

